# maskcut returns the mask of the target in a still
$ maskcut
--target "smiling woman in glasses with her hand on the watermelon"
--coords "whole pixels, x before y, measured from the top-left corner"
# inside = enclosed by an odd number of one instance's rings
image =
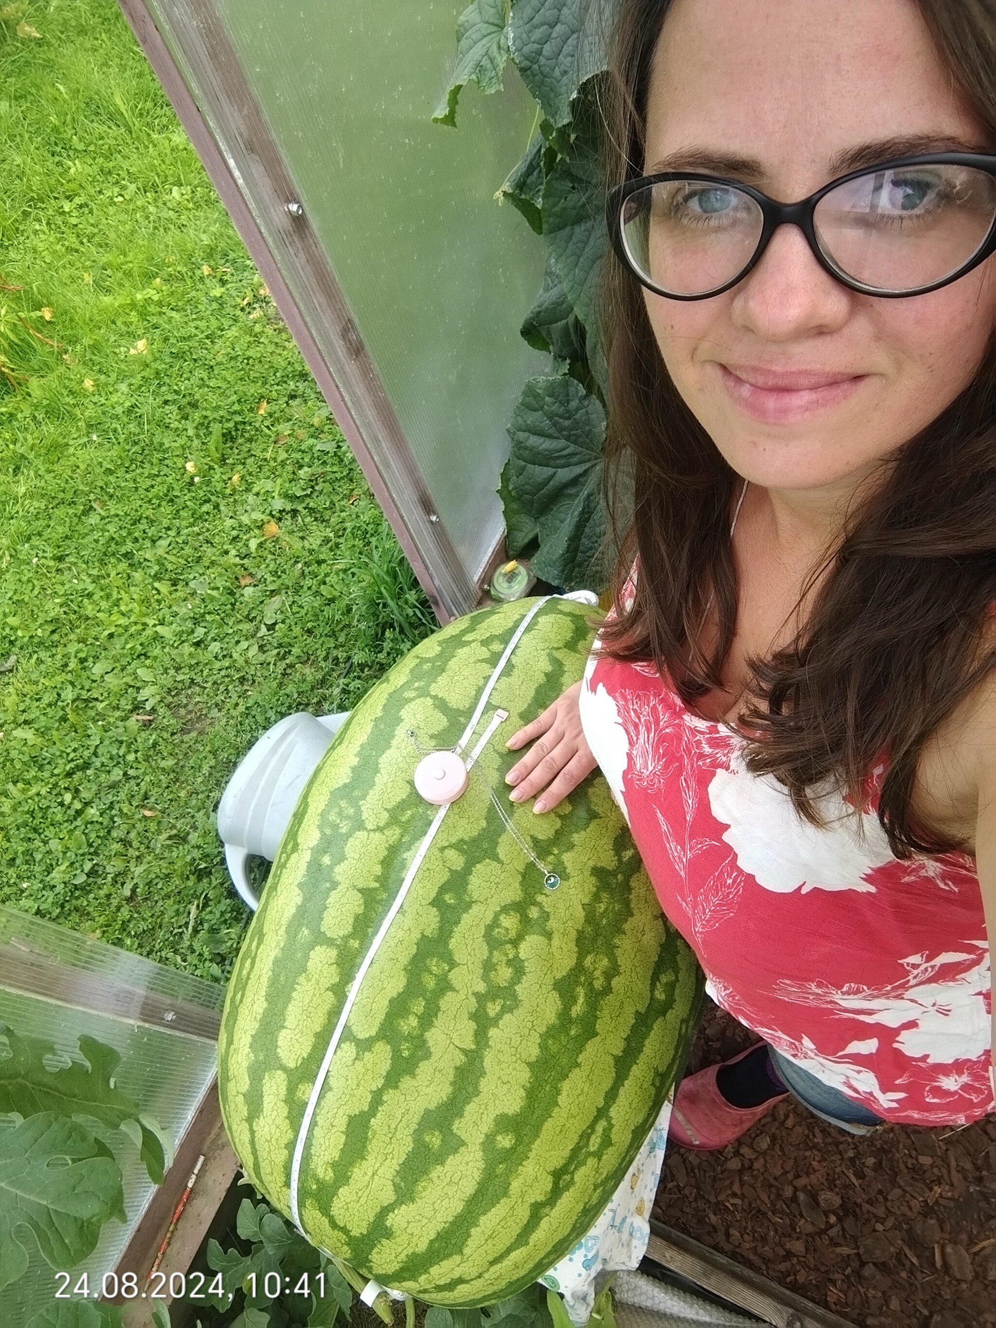
[[[679,1142],[721,1147],[786,1090],[853,1133],[975,1121],[996,3],[622,0],[614,49],[632,530],[584,683],[509,744],[535,740],[511,798],[548,810],[598,762],[710,993],[764,1038],[681,1084]]]

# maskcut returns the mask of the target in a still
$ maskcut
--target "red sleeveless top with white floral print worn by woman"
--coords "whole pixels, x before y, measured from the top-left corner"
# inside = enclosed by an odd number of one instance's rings
[[[695,714],[652,664],[592,653],[584,736],[661,908],[709,995],[888,1121],[961,1125],[996,1110],[989,951],[975,859],[903,862],[872,805],[803,822],[742,740]],[[880,772],[879,772],[880,777]]]

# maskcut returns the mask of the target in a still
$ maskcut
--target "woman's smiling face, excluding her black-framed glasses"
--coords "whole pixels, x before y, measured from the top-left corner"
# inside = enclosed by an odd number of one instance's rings
[[[676,0],[657,44],[647,173],[704,170],[791,202],[857,165],[980,150],[914,0]],[[996,259],[930,295],[858,295],[794,226],[725,295],[644,291],[664,363],[730,466],[847,491],[968,385]]]

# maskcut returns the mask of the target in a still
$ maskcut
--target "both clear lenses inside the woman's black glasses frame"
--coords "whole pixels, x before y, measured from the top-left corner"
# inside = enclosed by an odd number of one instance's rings
[[[813,228],[831,267],[875,291],[943,282],[979,252],[996,220],[996,179],[973,166],[871,170],[817,203]],[[672,295],[708,295],[736,280],[764,228],[761,206],[714,179],[665,181],[623,203],[635,270]]]

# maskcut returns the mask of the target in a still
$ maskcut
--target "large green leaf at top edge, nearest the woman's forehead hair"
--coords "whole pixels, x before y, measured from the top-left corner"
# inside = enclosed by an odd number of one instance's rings
[[[511,56],[554,126],[567,124],[580,85],[606,68],[596,8],[590,0],[514,0]]]

